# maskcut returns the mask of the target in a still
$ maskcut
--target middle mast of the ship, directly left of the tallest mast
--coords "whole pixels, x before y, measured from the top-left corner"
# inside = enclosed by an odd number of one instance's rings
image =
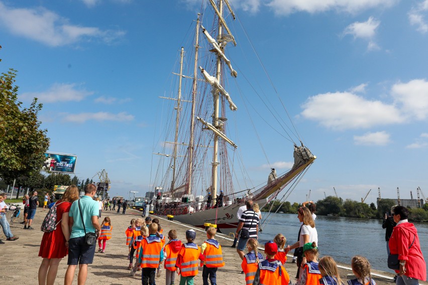
[[[197,85],[197,58],[199,49],[199,16],[197,14],[196,20],[196,39],[195,39],[195,64],[193,70],[193,85],[192,85],[192,111],[190,115],[190,139],[189,139],[189,161],[187,165],[187,194],[192,192],[192,175],[193,175],[193,132],[195,125],[195,102],[196,102],[196,85]]]

